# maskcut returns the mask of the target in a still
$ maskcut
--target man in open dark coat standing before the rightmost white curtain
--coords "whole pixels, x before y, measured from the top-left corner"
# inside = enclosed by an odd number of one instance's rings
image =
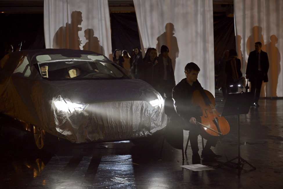
[[[255,43],[255,50],[250,52],[246,69],[246,78],[251,83],[251,93],[254,95],[253,106],[259,107],[258,100],[262,81],[267,82],[267,72],[269,68],[267,53],[261,50],[262,43]]]

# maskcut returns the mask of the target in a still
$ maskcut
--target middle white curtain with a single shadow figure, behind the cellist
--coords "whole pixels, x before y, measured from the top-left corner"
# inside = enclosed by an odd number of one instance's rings
[[[175,80],[185,78],[187,63],[196,63],[199,82],[214,91],[214,39],[211,0],[134,0],[141,46],[169,48]]]

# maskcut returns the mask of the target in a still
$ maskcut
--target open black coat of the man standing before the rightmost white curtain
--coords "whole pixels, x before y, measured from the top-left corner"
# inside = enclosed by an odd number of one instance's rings
[[[246,69],[246,74],[250,75],[251,77],[253,77],[253,75],[259,74],[258,63],[256,62],[256,59],[257,59],[257,51],[254,50],[250,52],[249,54],[247,69]],[[260,66],[261,66],[262,72],[265,73],[263,82],[267,82],[268,81],[267,72],[269,68],[269,62],[268,62],[267,53],[264,51],[260,52]]]

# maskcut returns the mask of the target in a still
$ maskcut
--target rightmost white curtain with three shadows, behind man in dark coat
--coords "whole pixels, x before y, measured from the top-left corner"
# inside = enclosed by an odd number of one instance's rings
[[[234,15],[242,73],[245,76],[248,55],[255,50],[255,42],[261,42],[269,60],[269,81],[263,83],[261,97],[283,97],[283,1],[234,0]]]

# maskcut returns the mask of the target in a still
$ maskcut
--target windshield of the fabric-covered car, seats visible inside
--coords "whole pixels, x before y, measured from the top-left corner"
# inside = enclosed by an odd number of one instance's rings
[[[49,80],[66,79],[125,79],[114,64],[102,60],[57,60],[38,63],[42,77]]]

